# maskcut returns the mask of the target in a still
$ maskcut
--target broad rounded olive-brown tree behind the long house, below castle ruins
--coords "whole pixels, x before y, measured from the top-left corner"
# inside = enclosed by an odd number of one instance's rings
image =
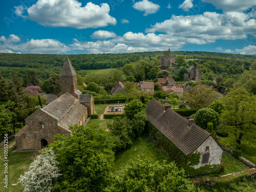
[[[206,84],[197,84],[185,92],[181,99],[193,108],[202,109],[207,108],[207,106],[217,99],[217,93],[206,86]]]

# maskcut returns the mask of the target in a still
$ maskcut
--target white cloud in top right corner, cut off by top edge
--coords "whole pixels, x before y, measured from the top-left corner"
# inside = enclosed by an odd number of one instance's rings
[[[256,6],[255,0],[202,0],[205,3],[214,5],[223,11],[246,11]]]

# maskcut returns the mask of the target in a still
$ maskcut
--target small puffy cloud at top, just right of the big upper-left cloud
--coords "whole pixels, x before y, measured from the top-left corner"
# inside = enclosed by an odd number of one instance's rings
[[[140,2],[136,2],[133,5],[133,8],[145,12],[143,15],[146,16],[148,14],[156,13],[159,10],[160,6],[150,1],[142,0]]]

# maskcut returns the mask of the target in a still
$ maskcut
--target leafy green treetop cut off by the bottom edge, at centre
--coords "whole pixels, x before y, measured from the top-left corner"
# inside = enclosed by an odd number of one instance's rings
[[[186,179],[184,170],[171,162],[151,162],[137,158],[120,170],[105,191],[200,191]]]

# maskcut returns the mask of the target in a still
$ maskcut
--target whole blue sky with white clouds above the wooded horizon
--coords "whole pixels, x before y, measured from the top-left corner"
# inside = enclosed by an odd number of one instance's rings
[[[0,15],[0,53],[256,54],[255,0],[12,0]]]

